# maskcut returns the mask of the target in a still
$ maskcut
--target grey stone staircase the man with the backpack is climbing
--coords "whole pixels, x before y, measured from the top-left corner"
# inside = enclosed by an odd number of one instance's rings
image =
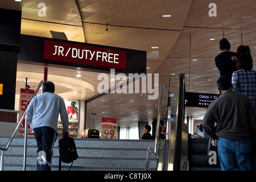
[[[0,137],[0,146],[5,146],[10,137]],[[59,148],[57,138],[53,147],[52,171],[59,168]],[[71,171],[89,170],[144,170],[147,148],[154,148],[154,140],[122,139],[75,139],[79,158],[73,162]],[[36,140],[27,138],[27,171],[36,171]],[[24,137],[15,137],[4,152],[4,171],[23,170]],[[61,163],[65,171],[70,164]],[[150,170],[156,170],[157,159],[151,155]]]

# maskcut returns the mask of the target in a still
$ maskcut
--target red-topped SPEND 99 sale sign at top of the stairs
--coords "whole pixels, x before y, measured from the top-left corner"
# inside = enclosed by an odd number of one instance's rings
[[[101,138],[117,138],[117,118],[101,117]]]

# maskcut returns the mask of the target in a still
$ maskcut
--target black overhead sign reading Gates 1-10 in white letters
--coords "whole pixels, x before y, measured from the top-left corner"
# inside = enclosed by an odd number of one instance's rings
[[[192,107],[208,107],[220,94],[209,94],[209,93],[185,93],[185,106]]]

